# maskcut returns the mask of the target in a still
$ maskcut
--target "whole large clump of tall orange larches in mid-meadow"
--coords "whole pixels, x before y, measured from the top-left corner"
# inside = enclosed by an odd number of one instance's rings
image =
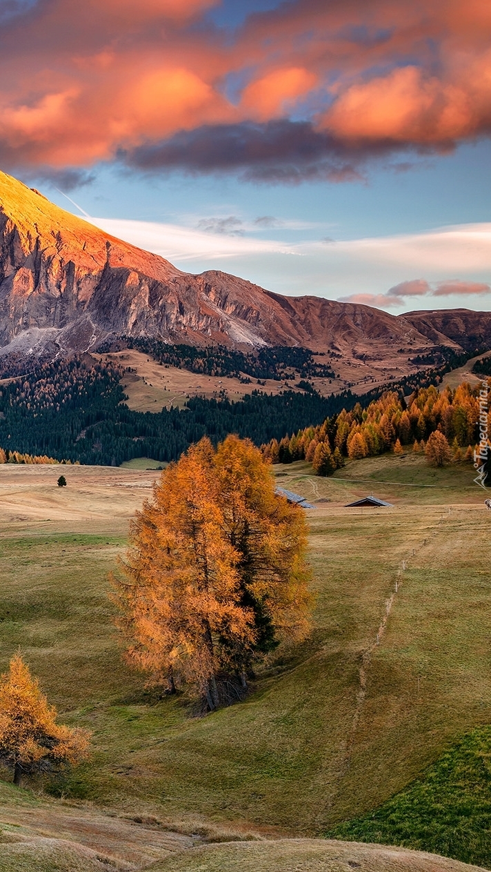
[[[210,710],[222,671],[245,684],[256,657],[306,626],[303,510],[269,468],[249,440],[201,439],[137,513],[114,580],[127,661],[150,684],[194,685]]]

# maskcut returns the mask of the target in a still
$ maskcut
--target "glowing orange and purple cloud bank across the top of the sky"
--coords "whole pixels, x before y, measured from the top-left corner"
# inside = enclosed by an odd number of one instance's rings
[[[0,161],[11,170],[119,159],[344,181],[367,160],[442,153],[491,131],[486,0],[290,0],[235,31],[208,17],[218,0],[0,5]]]

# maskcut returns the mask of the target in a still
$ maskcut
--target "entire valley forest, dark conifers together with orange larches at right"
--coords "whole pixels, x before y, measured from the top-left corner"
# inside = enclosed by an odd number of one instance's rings
[[[207,350],[188,349],[188,365],[204,371],[210,366],[215,371],[218,366],[222,374],[229,374],[239,362],[235,352],[222,351],[215,349],[208,355]],[[260,352],[263,357],[255,358],[254,365],[264,369],[256,369],[255,374],[283,379],[284,351]],[[291,352],[289,365],[308,378],[317,366],[310,352],[287,351]],[[177,346],[167,346],[169,359],[178,352]],[[251,374],[252,369],[251,363]],[[243,373],[243,369],[238,371]],[[437,427],[449,441],[456,440],[454,450],[478,441],[475,391],[461,387],[440,394],[431,386],[439,380],[440,370],[402,379],[382,399],[380,390],[361,397],[351,391],[321,397],[305,381],[303,393],[285,391],[273,396],[253,391],[236,402],[225,394],[219,399],[194,397],[185,409],[163,408],[157,413],[128,408],[120,384],[124,372],[119,364],[98,363],[85,355],[41,364],[23,378],[4,382],[0,385],[0,446],[12,456],[17,452],[119,466],[134,457],[176,460],[204,435],[216,443],[228,433],[237,433],[256,445],[269,444],[270,458],[283,462],[303,457],[313,460],[315,449],[322,444],[314,465],[322,467],[321,474],[329,474],[344,456],[381,453],[397,439],[402,445],[424,440]],[[408,394],[406,408],[404,396]]]

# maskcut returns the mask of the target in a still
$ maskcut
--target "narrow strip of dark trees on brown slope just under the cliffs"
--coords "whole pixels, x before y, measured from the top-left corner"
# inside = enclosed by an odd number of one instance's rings
[[[147,337],[120,337],[99,347],[104,353],[116,348],[132,348],[142,351],[160,364],[178,366],[191,372],[207,376],[224,378],[242,378],[243,374],[252,378],[273,378],[283,381],[295,378],[287,370],[295,370],[301,378],[317,376],[321,378],[336,378],[331,366],[317,364],[313,352],[308,348],[290,348],[288,345],[277,345],[273,348],[261,348],[257,351],[235,351],[225,345],[209,345],[206,348],[195,348],[194,345],[169,345],[160,339]]]

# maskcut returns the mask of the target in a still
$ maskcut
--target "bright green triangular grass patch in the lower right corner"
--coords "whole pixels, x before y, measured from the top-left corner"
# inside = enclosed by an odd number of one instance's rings
[[[391,842],[491,867],[491,727],[472,732],[413,784],[329,835]]]

